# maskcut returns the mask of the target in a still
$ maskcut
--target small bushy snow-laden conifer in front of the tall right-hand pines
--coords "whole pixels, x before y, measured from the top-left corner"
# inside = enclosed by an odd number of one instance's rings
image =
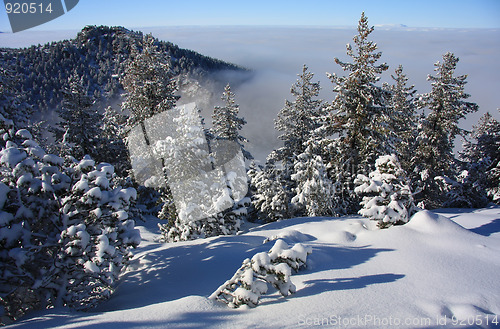
[[[359,214],[379,221],[381,228],[404,224],[415,211],[406,174],[395,155],[379,157],[369,176],[358,175],[355,192],[363,195]]]

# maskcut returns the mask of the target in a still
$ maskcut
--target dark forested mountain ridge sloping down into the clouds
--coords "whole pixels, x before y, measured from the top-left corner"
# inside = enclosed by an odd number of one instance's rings
[[[123,90],[118,77],[133,46],[142,48],[142,32],[123,27],[87,26],[74,39],[31,46],[23,49],[0,48],[0,67],[17,74],[17,87],[35,113],[59,107],[61,90],[68,77],[77,71],[87,91],[98,101],[119,96]],[[168,54],[172,70],[183,84],[186,77],[201,81],[212,79],[218,71],[245,71],[237,65],[181,49],[164,41],[158,48]],[[189,80],[188,79],[188,80]]]

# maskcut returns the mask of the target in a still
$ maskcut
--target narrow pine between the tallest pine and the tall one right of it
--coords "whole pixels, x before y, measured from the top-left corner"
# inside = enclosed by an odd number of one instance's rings
[[[388,138],[394,139],[392,144],[401,163],[401,167],[410,172],[412,155],[416,148],[417,139],[417,106],[415,103],[416,90],[414,86],[407,86],[408,78],[403,73],[403,66],[399,65],[395,75],[391,75],[393,85],[384,85],[387,90],[388,111]]]

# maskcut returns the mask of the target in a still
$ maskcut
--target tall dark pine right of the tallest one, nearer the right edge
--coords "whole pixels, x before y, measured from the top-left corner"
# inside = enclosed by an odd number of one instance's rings
[[[445,193],[435,178],[455,178],[453,141],[457,135],[465,134],[458,127],[458,121],[478,109],[477,104],[465,101],[470,97],[464,91],[467,75],[453,75],[457,63],[458,57],[454,54],[444,54],[443,62],[434,64],[436,76],[427,78],[431,81],[431,91],[419,100],[420,107],[430,111],[420,124],[413,161],[417,165],[412,173],[412,185],[421,190],[416,199],[422,208],[440,207],[445,201]]]

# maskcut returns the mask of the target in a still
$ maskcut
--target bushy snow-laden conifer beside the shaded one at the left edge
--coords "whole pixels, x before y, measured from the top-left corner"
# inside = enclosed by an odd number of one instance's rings
[[[73,308],[94,307],[110,297],[140,234],[129,219],[133,188],[113,185],[114,168],[86,157],[71,168],[73,184],[62,199],[58,301]]]

